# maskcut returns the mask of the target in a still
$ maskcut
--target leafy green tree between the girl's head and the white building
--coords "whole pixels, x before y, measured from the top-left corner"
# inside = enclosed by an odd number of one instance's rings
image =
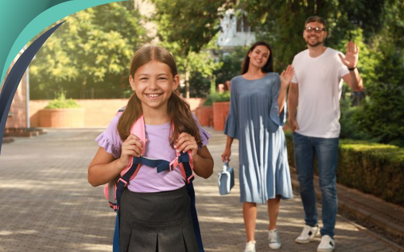
[[[186,97],[200,94],[199,87],[205,88],[210,80],[205,80],[220,65],[208,52],[215,47],[215,35],[219,31],[218,9],[225,3],[205,0],[151,0],[156,13],[153,20],[158,25],[158,36],[162,46],[176,57],[178,71],[185,82]],[[199,72],[199,74],[192,74]],[[202,78],[201,78],[202,77]],[[192,81],[192,88],[190,83]],[[205,88],[204,88],[205,87]],[[193,89],[193,90],[192,90]]]

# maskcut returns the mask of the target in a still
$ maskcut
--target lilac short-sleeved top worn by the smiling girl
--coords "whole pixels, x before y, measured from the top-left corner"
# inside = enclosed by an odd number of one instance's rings
[[[115,158],[121,156],[122,140],[117,130],[120,116],[121,115],[115,116],[108,125],[108,128],[95,139],[100,147],[103,147]],[[202,146],[205,146],[208,144],[208,139],[211,136],[200,127],[199,122],[193,114],[192,116],[199,129]],[[175,149],[170,146],[169,142],[170,127],[170,122],[160,125],[145,124],[147,139],[144,153],[145,157],[164,159],[171,162],[177,156]],[[132,192],[155,193],[176,190],[184,186],[184,184],[185,179],[182,177],[179,167],[175,168],[173,171],[157,173],[155,167],[150,168],[146,165],[142,165],[136,177],[129,182],[128,189]]]

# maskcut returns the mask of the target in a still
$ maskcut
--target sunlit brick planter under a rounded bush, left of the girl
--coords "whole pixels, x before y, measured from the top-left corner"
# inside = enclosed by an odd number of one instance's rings
[[[39,127],[51,128],[83,128],[84,108],[41,109]]]

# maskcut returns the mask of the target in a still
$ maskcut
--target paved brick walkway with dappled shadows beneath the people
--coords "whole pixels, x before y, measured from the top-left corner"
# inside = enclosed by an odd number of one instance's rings
[[[0,251],[111,251],[115,214],[102,187],[87,183],[87,167],[101,130],[50,130],[34,138],[15,138],[0,155]],[[238,175],[230,195],[220,196],[217,173],[225,137],[213,132],[209,150],[215,171],[196,178],[197,209],[206,251],[242,251],[245,242]],[[237,141],[231,165],[237,167]],[[281,251],[315,251],[320,241],[299,245],[303,221],[300,198],[282,201],[278,230]],[[257,251],[267,246],[268,216],[258,207]],[[395,246],[338,216],[336,251],[397,251]]]

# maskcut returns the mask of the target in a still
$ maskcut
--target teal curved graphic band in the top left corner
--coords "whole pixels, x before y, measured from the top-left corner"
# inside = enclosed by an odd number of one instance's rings
[[[13,59],[36,34],[78,11],[120,1],[122,0],[1,0],[0,87]]]

